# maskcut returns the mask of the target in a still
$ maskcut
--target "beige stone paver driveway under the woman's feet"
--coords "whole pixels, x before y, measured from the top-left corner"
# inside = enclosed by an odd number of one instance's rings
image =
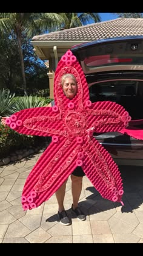
[[[41,154],[0,167],[0,243],[143,243],[143,168],[120,166],[124,206],[103,199],[85,176],[79,206],[86,221],[71,215],[71,184],[65,209],[70,226],[58,222],[55,194],[40,207],[24,212],[21,193]]]

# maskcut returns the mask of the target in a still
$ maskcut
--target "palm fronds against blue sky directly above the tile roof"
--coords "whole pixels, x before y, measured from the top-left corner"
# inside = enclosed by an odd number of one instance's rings
[[[60,29],[71,29],[71,27],[79,27],[90,22],[97,23],[101,21],[101,18],[98,13],[87,12],[87,13],[77,13],[77,12],[68,12],[68,13],[59,13],[62,18],[64,18],[64,23]]]

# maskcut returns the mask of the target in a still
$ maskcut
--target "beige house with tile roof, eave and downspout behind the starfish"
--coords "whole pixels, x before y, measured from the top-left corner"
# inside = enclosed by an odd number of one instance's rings
[[[143,35],[142,18],[118,18],[33,37],[31,43],[34,51],[41,60],[48,61],[47,75],[50,85],[50,98],[53,99],[56,66],[68,49],[76,44],[87,43],[88,41],[133,35]]]

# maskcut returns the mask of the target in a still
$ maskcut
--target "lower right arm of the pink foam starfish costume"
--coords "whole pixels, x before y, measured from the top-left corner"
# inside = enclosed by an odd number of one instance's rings
[[[121,174],[111,155],[98,141],[90,137],[87,138],[83,150],[83,170],[93,186],[105,199],[121,202],[123,194]]]

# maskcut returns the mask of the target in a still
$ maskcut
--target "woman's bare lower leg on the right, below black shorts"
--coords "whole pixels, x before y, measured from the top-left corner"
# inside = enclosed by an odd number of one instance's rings
[[[78,177],[71,174],[71,193],[73,196],[73,209],[78,207],[78,201],[82,191],[82,179],[83,177]]]

